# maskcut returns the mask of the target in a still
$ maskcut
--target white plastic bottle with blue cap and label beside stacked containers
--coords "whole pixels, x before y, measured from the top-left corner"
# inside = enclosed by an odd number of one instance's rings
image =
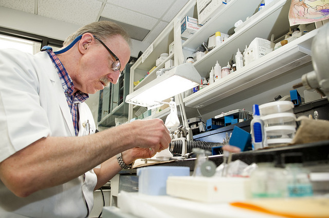
[[[258,105],[252,106],[252,120],[250,123],[251,129],[251,142],[253,150],[264,148],[265,142],[265,130],[264,121],[261,119]]]

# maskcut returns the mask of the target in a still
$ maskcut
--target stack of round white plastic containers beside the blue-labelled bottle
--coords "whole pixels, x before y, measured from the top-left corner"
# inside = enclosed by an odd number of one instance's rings
[[[289,101],[270,102],[259,106],[264,121],[268,146],[290,143],[296,133],[294,104]]]

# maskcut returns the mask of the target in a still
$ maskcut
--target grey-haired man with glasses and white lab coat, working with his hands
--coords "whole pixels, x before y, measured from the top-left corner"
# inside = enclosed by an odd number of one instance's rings
[[[0,217],[86,217],[93,190],[168,147],[158,119],[92,134],[86,93],[117,83],[129,42],[117,25],[96,22],[63,53],[0,50]]]

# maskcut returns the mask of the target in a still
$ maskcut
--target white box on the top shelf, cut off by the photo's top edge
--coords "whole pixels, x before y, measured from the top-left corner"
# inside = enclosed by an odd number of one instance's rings
[[[204,25],[224,6],[222,0],[196,0],[198,24]]]

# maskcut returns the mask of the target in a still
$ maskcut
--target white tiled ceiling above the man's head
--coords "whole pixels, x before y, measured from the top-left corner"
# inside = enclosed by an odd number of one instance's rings
[[[83,26],[100,17],[150,30],[138,48],[146,49],[189,0],[0,0],[0,7]],[[74,32],[73,30],[72,32]]]

